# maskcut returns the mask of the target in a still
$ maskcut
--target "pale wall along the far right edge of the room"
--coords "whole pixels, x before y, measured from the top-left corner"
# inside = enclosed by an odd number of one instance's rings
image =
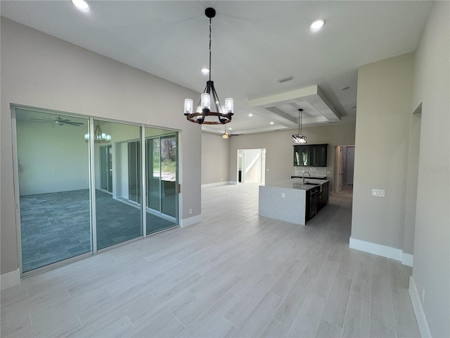
[[[420,37],[413,108],[422,104],[413,280],[432,337],[450,337],[450,3],[435,1]]]

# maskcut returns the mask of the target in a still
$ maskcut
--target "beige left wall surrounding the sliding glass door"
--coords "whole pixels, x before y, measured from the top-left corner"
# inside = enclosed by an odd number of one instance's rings
[[[0,94],[1,274],[18,269],[10,104],[179,130],[180,218],[201,219],[201,131],[182,113],[198,93],[1,18]]]

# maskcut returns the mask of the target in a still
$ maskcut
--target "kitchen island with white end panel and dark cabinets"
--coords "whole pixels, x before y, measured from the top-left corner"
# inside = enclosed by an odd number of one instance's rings
[[[328,180],[293,178],[259,186],[258,214],[305,225],[328,203]]]

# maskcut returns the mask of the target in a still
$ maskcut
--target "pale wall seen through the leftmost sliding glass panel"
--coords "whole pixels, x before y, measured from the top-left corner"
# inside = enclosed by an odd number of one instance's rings
[[[86,127],[17,121],[20,196],[89,189]]]

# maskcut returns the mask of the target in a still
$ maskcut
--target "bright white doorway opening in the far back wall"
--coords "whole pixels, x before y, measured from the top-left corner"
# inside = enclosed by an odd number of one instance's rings
[[[238,184],[266,181],[266,149],[238,149]]]

